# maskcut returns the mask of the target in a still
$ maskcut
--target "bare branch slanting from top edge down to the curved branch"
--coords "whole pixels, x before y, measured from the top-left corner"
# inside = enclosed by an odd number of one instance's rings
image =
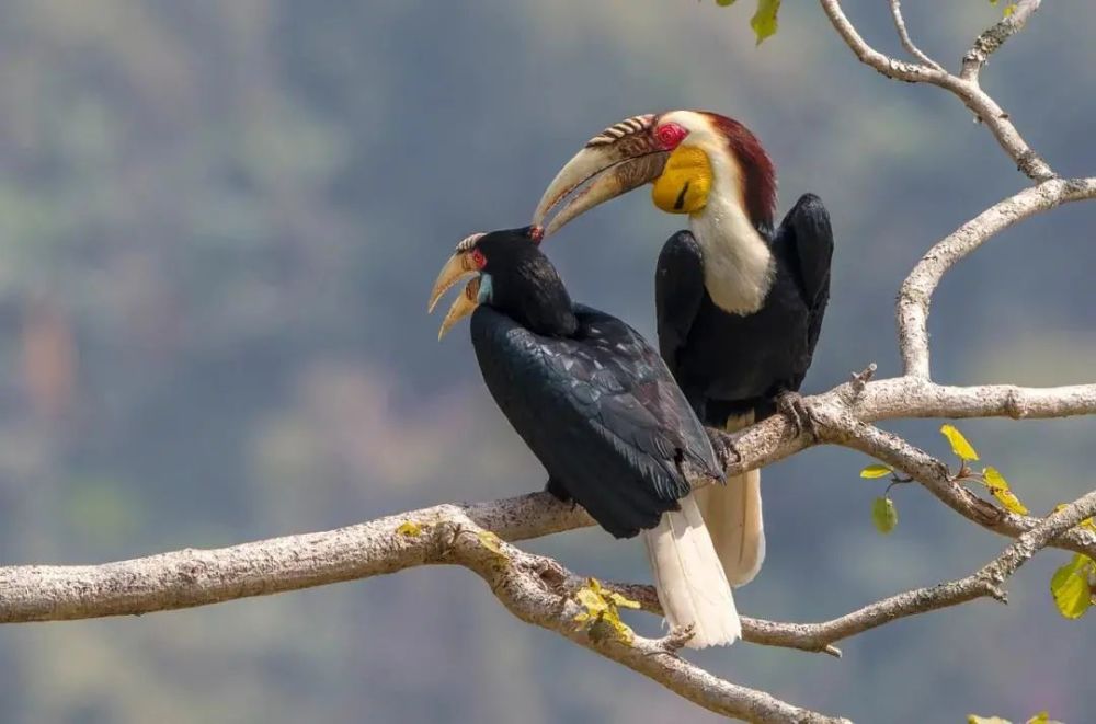
[[[1020,172],[1034,181],[1046,181],[1054,177],[1053,170],[1027,145],[1027,141],[1016,130],[1016,126],[1009,120],[1008,114],[1002,111],[1001,106],[977,82],[958,78],[944,69],[895,60],[876,50],[856,32],[856,27],[845,16],[838,0],[819,0],[819,2],[834,30],[852,48],[860,62],[875,68],[888,78],[910,83],[931,83],[950,91],[985,124],[994,138],[997,139],[1001,148],[1016,162],[1016,168]]]

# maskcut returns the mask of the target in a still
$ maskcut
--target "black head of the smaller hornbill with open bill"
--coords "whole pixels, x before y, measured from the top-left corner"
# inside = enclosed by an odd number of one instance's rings
[[[556,268],[540,252],[540,238],[539,227],[524,227],[463,239],[434,281],[427,312],[461,279],[472,277],[449,307],[437,338],[483,303],[534,331],[567,332],[573,325],[571,300]]]

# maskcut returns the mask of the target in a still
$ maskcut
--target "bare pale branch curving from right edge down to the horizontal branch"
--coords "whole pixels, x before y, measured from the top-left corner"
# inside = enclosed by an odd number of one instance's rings
[[[1096,198],[1096,177],[1044,181],[994,204],[928,250],[899,291],[899,347],[905,374],[929,376],[928,307],[948,269],[1017,221],[1087,198]]]

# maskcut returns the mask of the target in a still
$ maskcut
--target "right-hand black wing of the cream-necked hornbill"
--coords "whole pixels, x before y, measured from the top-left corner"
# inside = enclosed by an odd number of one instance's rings
[[[792,271],[798,273],[799,290],[809,314],[807,358],[810,364],[830,301],[830,261],[833,257],[833,230],[822,199],[814,194],[800,196],[780,222],[773,248],[775,253],[795,262]]]

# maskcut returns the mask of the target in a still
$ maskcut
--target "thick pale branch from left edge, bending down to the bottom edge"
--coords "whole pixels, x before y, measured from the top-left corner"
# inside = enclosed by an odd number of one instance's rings
[[[187,549],[99,566],[0,568],[0,620],[148,613],[365,578],[419,565],[455,564],[483,578],[521,620],[555,631],[705,709],[755,722],[845,721],[719,679],[669,653],[664,641],[635,636],[626,642],[578,627],[574,617],[581,609],[571,595],[583,579],[551,559],[509,545],[477,521],[491,520],[515,537],[529,535],[534,531],[515,515],[533,507],[559,514],[567,507],[547,497],[523,496],[490,506],[441,505],[327,532],[218,550]]]

